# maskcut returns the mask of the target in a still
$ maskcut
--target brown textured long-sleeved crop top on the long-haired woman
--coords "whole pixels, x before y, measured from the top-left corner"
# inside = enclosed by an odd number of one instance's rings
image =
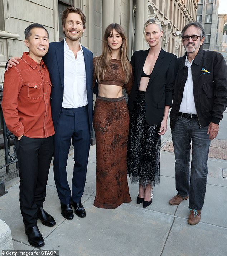
[[[97,75],[95,73],[95,67],[97,64],[98,57],[95,57],[93,59],[93,65],[94,65],[94,75],[93,75],[93,87],[95,86],[95,82],[97,79]],[[130,65],[131,67],[131,65]],[[125,88],[127,94],[130,94],[130,91],[132,89],[133,85],[133,74],[132,74],[132,68],[131,68],[131,74],[129,77],[129,82],[127,84],[124,84],[125,82],[125,74],[123,73],[123,69],[121,66],[121,61],[116,59],[110,59],[110,71],[106,71],[106,74],[104,76],[103,80],[97,81],[99,84],[110,84],[110,85],[117,85],[122,86]]]

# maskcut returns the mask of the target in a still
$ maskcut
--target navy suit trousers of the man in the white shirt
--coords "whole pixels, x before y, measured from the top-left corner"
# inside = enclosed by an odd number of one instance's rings
[[[81,201],[90,148],[88,107],[62,108],[54,135],[54,180],[62,204]],[[72,195],[67,181],[69,148],[74,146]]]

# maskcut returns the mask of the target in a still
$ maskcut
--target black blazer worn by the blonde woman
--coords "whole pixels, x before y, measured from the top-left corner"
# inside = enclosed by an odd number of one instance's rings
[[[134,75],[134,84],[128,101],[130,117],[137,97],[141,74],[148,52],[149,49],[134,52],[130,62]],[[145,118],[149,125],[160,125],[164,116],[165,106],[172,106],[173,88],[177,71],[177,56],[161,49],[151,73],[145,94]]]

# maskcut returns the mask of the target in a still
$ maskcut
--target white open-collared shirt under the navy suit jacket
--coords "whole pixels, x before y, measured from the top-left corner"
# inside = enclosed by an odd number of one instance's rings
[[[79,43],[80,50],[77,58],[64,39],[64,93],[63,108],[78,108],[87,105],[86,73],[83,49]]]

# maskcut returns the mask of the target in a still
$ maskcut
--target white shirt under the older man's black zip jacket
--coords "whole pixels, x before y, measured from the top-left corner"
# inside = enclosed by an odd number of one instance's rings
[[[194,95],[193,95],[193,81],[192,81],[192,70],[191,70],[192,62],[190,63],[186,56],[185,66],[188,67],[188,77],[184,86],[183,98],[180,104],[179,112],[197,114],[196,108],[195,108]]]

